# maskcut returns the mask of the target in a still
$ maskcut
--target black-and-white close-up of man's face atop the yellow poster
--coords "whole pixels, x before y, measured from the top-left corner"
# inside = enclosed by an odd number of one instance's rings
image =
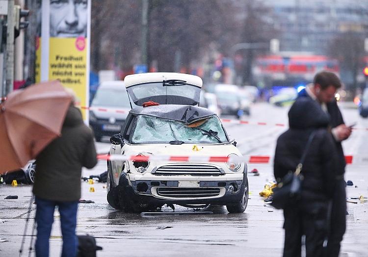
[[[88,0],[50,0],[50,37],[86,37]]]

